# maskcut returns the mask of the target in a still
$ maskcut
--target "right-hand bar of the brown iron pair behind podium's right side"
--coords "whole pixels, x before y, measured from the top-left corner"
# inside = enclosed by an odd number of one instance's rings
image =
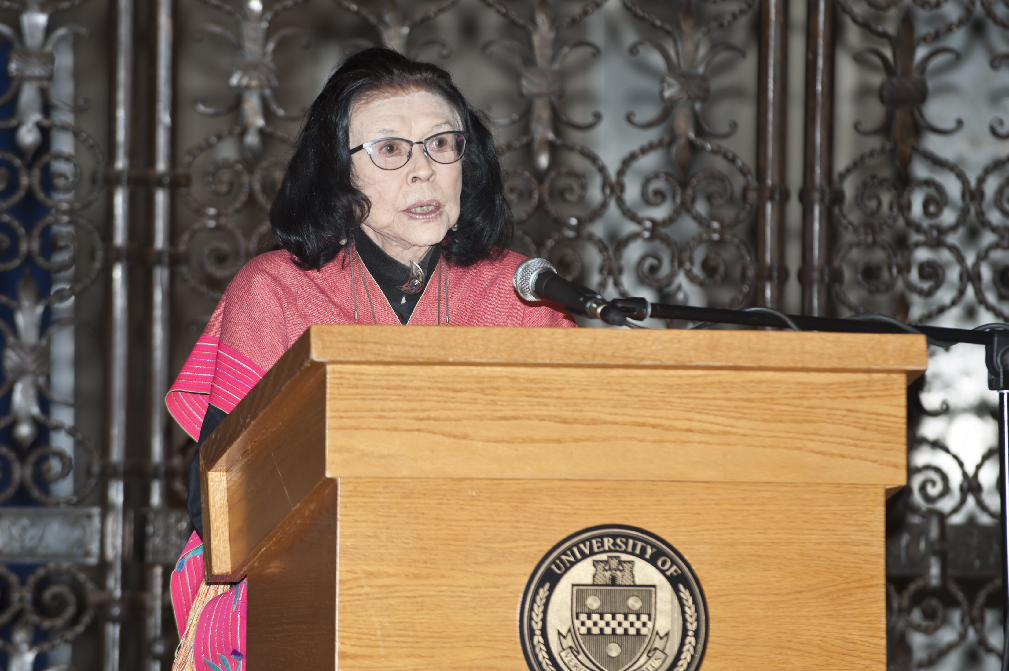
[[[830,179],[833,172],[833,0],[809,0],[802,167],[802,314],[826,316]]]

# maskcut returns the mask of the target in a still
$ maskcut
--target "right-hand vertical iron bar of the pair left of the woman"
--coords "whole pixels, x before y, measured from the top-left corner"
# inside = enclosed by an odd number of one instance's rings
[[[172,84],[173,84],[173,6],[172,0],[157,0],[154,35],[154,172],[166,174],[172,167]],[[166,187],[153,190],[153,231],[151,244],[156,259],[151,269],[150,314],[150,463],[154,472],[164,463],[164,437],[167,415],[164,395],[169,388],[169,319],[171,315],[171,266],[167,252],[171,246],[172,194]],[[152,510],[164,505],[164,478],[150,479],[148,505]],[[148,558],[149,561],[149,558]],[[163,653],[161,639],[161,592],[164,589],[164,567],[149,564],[147,573],[147,668],[159,671]]]

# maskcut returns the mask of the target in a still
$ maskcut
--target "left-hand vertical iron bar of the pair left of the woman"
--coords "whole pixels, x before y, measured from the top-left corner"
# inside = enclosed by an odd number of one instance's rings
[[[129,170],[133,79],[133,0],[116,0],[115,94],[112,164],[116,175]],[[126,457],[128,294],[126,244],[129,241],[129,192],[125,180],[112,189],[111,246],[115,250],[109,297],[109,453],[111,476],[105,518],[105,589],[112,597],[105,623],[105,671],[119,670],[122,619],[123,478]]]

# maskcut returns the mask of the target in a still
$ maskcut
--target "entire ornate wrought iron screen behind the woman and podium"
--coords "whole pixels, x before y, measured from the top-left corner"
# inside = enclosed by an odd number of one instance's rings
[[[0,0],[0,667],[171,666],[194,445],[162,399],[273,245],[304,108],[368,44],[453,74],[497,127],[516,248],[604,294],[1009,319],[1005,3]],[[895,670],[999,664],[976,349],[909,393]]]

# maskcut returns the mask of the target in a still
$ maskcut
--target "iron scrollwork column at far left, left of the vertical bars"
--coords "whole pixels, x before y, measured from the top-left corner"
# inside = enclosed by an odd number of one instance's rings
[[[72,404],[50,388],[49,375],[52,339],[73,322],[50,317],[51,310],[94,284],[107,256],[99,228],[85,214],[104,192],[105,156],[91,134],[66,120],[87,101],[64,100],[55,87],[58,45],[87,31],[53,27],[50,19],[83,1],[0,4],[17,12],[19,25],[0,23],[0,39],[11,47],[0,105],[14,102],[13,113],[0,119],[0,129],[13,131],[12,145],[0,149],[0,271],[19,278],[12,295],[0,294],[11,315],[10,322],[0,320],[0,399],[9,401],[0,430],[10,437],[0,444],[0,502],[17,497],[52,507],[0,509],[0,561],[39,565],[22,581],[0,564],[0,627],[9,628],[0,649],[9,668],[31,668],[38,655],[79,637],[99,598],[75,565],[45,563],[89,565],[100,555],[99,509],[64,507],[95,490],[103,461],[93,441],[49,408]],[[55,143],[55,135],[69,141]],[[32,208],[41,214],[30,214]],[[61,279],[43,291],[36,277],[45,275]],[[57,446],[58,434],[69,437],[70,448],[67,441]]]

